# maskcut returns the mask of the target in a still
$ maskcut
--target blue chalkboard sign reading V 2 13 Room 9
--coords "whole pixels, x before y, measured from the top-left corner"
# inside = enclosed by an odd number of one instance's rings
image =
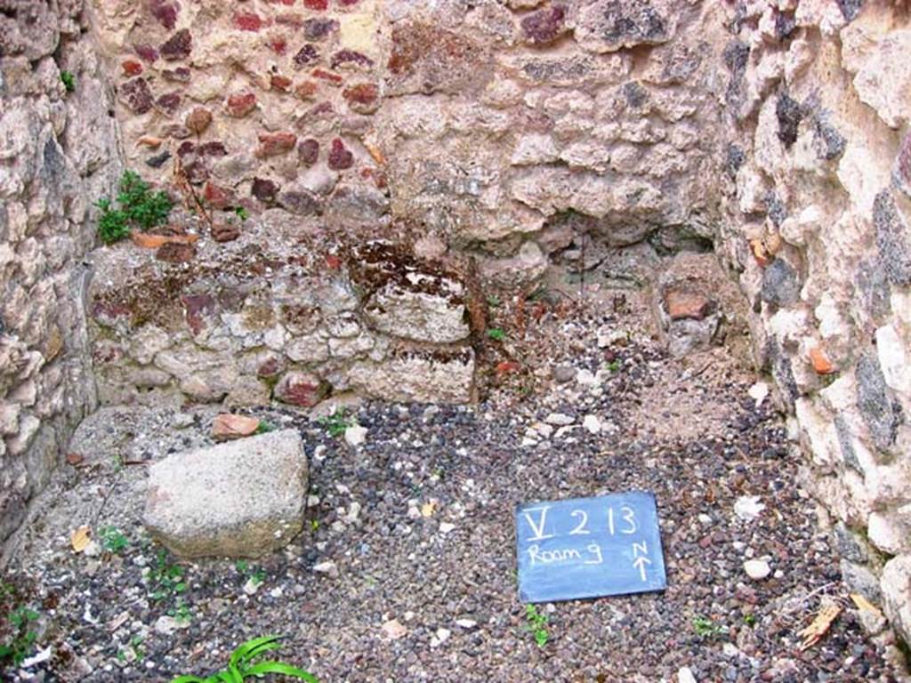
[[[654,494],[519,505],[516,541],[523,602],[644,593],[668,585]]]

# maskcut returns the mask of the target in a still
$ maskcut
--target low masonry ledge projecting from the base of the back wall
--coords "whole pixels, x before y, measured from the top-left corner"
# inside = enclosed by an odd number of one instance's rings
[[[367,238],[303,246],[280,227],[203,241],[189,263],[99,250],[90,331],[103,403],[312,407],[330,392],[476,400],[462,273]]]

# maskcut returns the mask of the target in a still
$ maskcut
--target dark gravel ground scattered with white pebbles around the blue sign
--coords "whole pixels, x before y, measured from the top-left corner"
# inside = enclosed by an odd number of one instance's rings
[[[748,395],[751,372],[721,348],[667,357],[635,302],[502,309],[507,340],[491,342],[494,388],[478,406],[355,404],[368,429],[357,448],[312,416],[254,412],[301,431],[310,524],[261,561],[181,565],[182,593],[162,586],[177,565],[138,522],[145,463],[210,443],[214,411],[87,420],[71,446],[82,462],[58,474],[8,567],[49,658],[5,679],[205,675],[269,633],[324,683],[676,681],[684,667],[701,682],[904,679],[865,637],[783,423]],[[573,423],[544,438],[532,425],[550,413]],[[514,507],[634,489],[657,496],[667,591],[542,606],[538,647],[517,596]],[[733,512],[743,495],[766,505],[750,522]],[[76,554],[79,525],[116,527],[128,545]],[[771,576],[746,576],[749,558]],[[801,651],[797,632],[826,601],[844,611]]]

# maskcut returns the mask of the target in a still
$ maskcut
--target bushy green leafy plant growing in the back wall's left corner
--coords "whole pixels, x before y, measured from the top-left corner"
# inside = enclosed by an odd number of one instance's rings
[[[116,206],[108,198],[98,199],[95,205],[101,209],[98,237],[105,244],[129,237],[132,228],[150,230],[168,221],[174,208],[168,195],[153,192],[136,171],[124,171],[119,190]]]

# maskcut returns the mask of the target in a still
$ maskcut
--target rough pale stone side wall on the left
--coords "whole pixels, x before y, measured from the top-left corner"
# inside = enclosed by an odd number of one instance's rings
[[[81,0],[0,2],[0,541],[96,402],[82,260],[118,148],[90,30]]]

